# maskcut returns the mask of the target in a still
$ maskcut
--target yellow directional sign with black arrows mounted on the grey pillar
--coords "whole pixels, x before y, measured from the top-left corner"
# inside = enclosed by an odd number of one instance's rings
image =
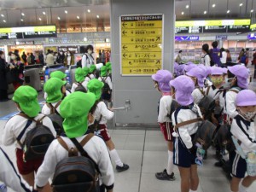
[[[163,15],[121,16],[122,75],[152,75],[162,68]]]

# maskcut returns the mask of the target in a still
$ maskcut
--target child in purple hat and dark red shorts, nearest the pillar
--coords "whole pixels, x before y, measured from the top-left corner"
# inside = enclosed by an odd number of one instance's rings
[[[171,87],[169,82],[172,80],[172,73],[167,70],[159,70],[152,75],[154,86],[160,91],[162,97],[159,102],[158,123],[162,131],[168,147],[168,161],[166,169],[163,172],[155,173],[155,177],[160,180],[175,180],[173,173],[173,138],[172,138],[172,119],[168,117],[171,113]]]

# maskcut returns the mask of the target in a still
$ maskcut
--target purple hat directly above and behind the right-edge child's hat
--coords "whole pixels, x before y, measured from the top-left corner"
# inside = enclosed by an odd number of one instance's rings
[[[233,73],[237,78],[237,84],[239,87],[243,89],[248,88],[248,82],[247,79],[249,77],[249,72],[247,70],[247,67],[243,65],[236,65],[233,67],[228,67],[230,73]]]

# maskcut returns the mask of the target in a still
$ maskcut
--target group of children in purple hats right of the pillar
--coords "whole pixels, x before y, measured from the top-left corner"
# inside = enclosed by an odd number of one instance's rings
[[[201,125],[199,121],[209,120],[217,127],[215,137],[218,137],[218,131],[229,127],[230,137],[232,135],[238,141],[240,147],[236,145],[234,150],[229,151],[232,167],[230,189],[233,192],[247,191],[256,180],[256,132],[253,122],[256,94],[253,90],[247,90],[248,78],[249,72],[243,65],[222,68],[192,62],[183,65],[176,63],[173,75],[167,70],[152,75],[154,87],[161,94],[158,123],[168,147],[166,169],[157,172],[155,177],[175,180],[173,165],[176,165],[181,177],[181,192],[197,191],[197,165],[202,165],[202,148],[195,141],[195,136]],[[213,101],[211,110],[204,108],[207,105],[203,102],[206,97]],[[222,147],[216,146],[217,154],[220,154]],[[239,151],[245,155],[241,156]],[[207,158],[207,151],[203,156]],[[219,162],[216,164],[219,165]]]

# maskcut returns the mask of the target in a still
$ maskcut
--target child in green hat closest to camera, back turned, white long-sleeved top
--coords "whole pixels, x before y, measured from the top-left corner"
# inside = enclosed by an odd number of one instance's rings
[[[65,119],[63,122],[65,134],[61,136],[61,140],[67,144],[67,148],[75,148],[71,138],[76,138],[80,143],[84,140],[84,137],[88,137],[85,133],[88,129],[88,125],[94,121],[90,109],[94,106],[95,102],[96,96],[94,94],[85,94],[79,91],[65,97],[61,102],[61,116]],[[83,148],[90,158],[96,162],[99,171],[102,173],[102,182],[107,191],[113,192],[113,167],[105,143],[100,137],[91,137]],[[56,165],[67,157],[68,151],[66,148],[62,147],[61,143],[59,143],[59,139],[50,144],[48,151],[45,154],[44,162],[38,169],[35,179],[39,191],[45,188],[45,184],[48,182],[49,177],[55,172]],[[74,180],[78,179],[75,178]],[[84,189],[84,191],[86,191],[86,189]]]

